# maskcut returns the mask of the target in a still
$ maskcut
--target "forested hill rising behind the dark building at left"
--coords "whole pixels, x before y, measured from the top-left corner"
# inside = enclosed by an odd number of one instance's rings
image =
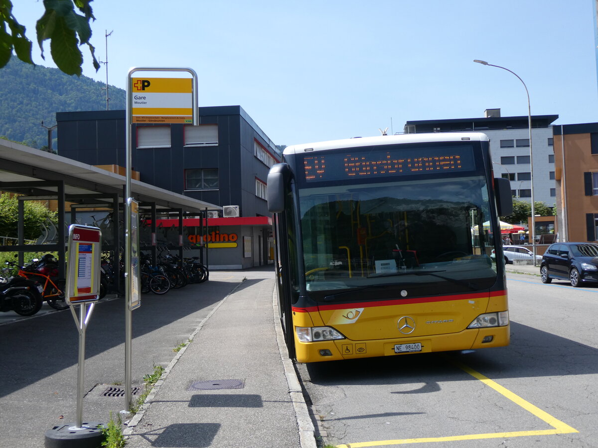
[[[103,67],[99,73],[101,70]],[[56,124],[56,112],[104,111],[106,91],[102,87],[105,82],[32,66],[13,56],[0,69],[0,137],[32,148],[47,146],[48,131],[42,127],[42,120],[51,127]],[[111,110],[126,107],[123,89],[110,86],[109,96]],[[55,131],[53,137],[56,149]]]

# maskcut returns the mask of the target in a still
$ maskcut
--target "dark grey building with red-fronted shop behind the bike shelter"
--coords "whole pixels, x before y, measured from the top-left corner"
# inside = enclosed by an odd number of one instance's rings
[[[59,112],[56,121],[62,157],[96,166],[126,165],[125,111]],[[266,179],[281,157],[240,106],[199,108],[197,126],[133,124],[131,146],[132,168],[141,182],[223,207],[218,216],[210,214],[204,239],[214,249],[209,259],[212,268],[248,268],[268,262],[271,226]],[[212,232],[234,234],[238,243],[231,247],[224,244],[230,241],[210,241]],[[190,243],[199,241],[193,229],[188,234],[193,235]]]

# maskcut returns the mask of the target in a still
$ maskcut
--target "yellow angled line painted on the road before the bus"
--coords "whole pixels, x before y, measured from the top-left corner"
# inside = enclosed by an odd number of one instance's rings
[[[396,440],[377,440],[372,442],[359,442],[349,443],[344,445],[337,445],[337,448],[367,448],[372,446],[391,446],[391,445],[402,445],[407,443],[429,443],[429,442],[446,442],[456,440],[478,440],[481,438],[502,438],[502,437],[523,437],[529,435],[554,435],[554,434],[570,434],[571,432],[579,432],[577,429],[572,428],[566,423],[563,423],[559,419],[554,418],[547,412],[544,412],[539,407],[534,406],[529,401],[524,400],[519,395],[514,394],[507,388],[504,388],[499,383],[492,381],[487,376],[482,375],[480,372],[476,372],[465,364],[457,363],[456,361],[450,361],[454,366],[469,373],[475,379],[480,380],[485,385],[495,389],[496,392],[503,395],[504,397],[511,400],[527,412],[532,413],[548,425],[552,426],[553,429],[541,429],[538,431],[512,431],[512,432],[489,432],[487,434],[465,434],[465,435],[452,435],[449,437],[423,437],[423,438],[403,438]]]

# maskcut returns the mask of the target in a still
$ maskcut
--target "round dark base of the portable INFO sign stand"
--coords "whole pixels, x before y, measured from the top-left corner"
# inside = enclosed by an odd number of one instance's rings
[[[81,427],[75,423],[54,426],[44,436],[45,448],[100,448],[104,441],[102,428],[106,425],[99,422],[83,422]]]

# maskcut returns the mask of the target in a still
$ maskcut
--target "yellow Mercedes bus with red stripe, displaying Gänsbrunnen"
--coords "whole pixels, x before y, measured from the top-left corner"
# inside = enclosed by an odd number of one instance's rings
[[[288,146],[267,193],[291,358],[508,345],[498,216],[511,188],[493,177],[486,134]]]

